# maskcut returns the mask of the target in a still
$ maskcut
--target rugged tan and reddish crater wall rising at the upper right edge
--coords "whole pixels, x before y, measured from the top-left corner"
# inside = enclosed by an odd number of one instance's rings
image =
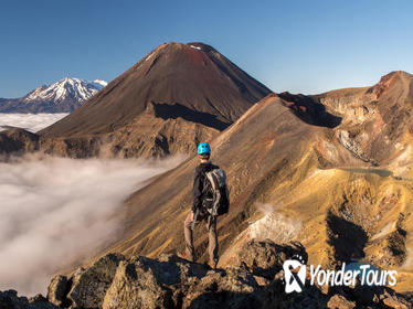
[[[301,108],[325,106],[342,118],[337,139],[371,164],[390,164],[409,148],[413,132],[413,75],[398,71],[372,87],[338,89],[316,96],[280,94]],[[310,109],[310,108],[309,108]],[[403,148],[404,146],[404,148]]]

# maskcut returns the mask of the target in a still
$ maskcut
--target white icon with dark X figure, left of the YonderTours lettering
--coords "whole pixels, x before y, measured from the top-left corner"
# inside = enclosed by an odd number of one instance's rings
[[[299,257],[298,257],[299,258]],[[306,284],[306,265],[299,259],[287,259],[283,264],[285,292],[303,291]]]

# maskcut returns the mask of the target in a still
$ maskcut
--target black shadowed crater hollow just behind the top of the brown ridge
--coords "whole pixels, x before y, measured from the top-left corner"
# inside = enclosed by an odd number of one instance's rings
[[[294,114],[303,121],[327,128],[335,128],[341,124],[342,118],[335,116],[326,110],[326,107],[314,98],[305,95],[293,95],[282,93],[278,96],[284,99]]]

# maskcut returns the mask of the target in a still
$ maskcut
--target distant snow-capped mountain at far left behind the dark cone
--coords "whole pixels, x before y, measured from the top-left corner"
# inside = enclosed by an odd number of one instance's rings
[[[0,98],[0,113],[71,113],[98,93],[107,83],[65,77],[43,85],[21,98]]]

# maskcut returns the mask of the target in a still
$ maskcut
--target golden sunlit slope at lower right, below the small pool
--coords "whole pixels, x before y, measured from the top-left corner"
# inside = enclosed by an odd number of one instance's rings
[[[310,264],[333,267],[340,262],[363,260],[407,271],[400,277],[404,283],[398,289],[411,290],[412,184],[369,169],[321,170],[314,164],[289,180],[275,182],[264,193],[263,202],[274,206],[275,213],[267,206],[264,216],[257,214],[234,242],[233,251],[252,237],[299,241]],[[289,231],[294,233],[286,233]]]

